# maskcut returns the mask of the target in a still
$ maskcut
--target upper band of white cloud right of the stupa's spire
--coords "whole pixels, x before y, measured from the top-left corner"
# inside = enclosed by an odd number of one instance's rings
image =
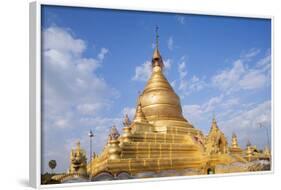
[[[269,51],[270,52],[270,51]],[[178,64],[179,79],[174,81],[177,84],[182,97],[190,95],[192,92],[203,90],[206,87],[215,87],[226,95],[239,90],[256,90],[270,85],[271,75],[271,55],[267,53],[256,64],[250,67],[248,62],[252,61],[260,53],[259,49],[252,48],[243,53],[239,59],[233,62],[232,67],[218,71],[206,82],[206,77],[193,75],[187,77],[188,70],[186,58],[183,56]]]

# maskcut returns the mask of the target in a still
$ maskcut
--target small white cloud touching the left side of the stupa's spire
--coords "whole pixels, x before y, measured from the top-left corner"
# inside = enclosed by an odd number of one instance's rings
[[[136,67],[135,76],[133,77],[133,80],[147,81],[149,76],[151,75],[151,72],[152,72],[151,62],[146,61],[142,65]]]

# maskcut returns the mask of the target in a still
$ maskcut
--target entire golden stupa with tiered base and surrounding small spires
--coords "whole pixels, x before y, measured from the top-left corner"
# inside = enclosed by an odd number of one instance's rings
[[[206,136],[183,117],[180,99],[163,73],[158,35],[151,66],[152,74],[137,98],[134,119],[130,121],[126,115],[123,134],[113,127],[101,154],[89,159],[90,180],[256,171],[263,168],[255,167],[253,161],[270,162],[268,148],[259,152],[248,145],[243,150],[235,134],[229,146],[215,117]],[[77,168],[70,171],[80,175]]]

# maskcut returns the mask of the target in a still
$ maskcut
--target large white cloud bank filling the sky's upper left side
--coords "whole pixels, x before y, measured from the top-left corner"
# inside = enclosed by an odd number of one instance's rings
[[[43,31],[43,42],[46,109],[48,106],[58,110],[93,102],[108,102],[117,96],[117,91],[95,74],[97,68],[101,67],[101,60],[82,56],[86,49],[83,40],[74,38],[63,28],[50,27]],[[98,57],[103,59],[107,51],[101,49],[102,56]],[[64,113],[62,110],[60,112]]]

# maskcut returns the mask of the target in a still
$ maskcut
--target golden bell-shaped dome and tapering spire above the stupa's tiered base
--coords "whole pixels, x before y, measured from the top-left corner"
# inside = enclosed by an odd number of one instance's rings
[[[163,67],[160,52],[156,48],[152,58],[152,75],[140,96],[142,111],[148,121],[186,121],[182,116],[180,99],[164,76]]]

